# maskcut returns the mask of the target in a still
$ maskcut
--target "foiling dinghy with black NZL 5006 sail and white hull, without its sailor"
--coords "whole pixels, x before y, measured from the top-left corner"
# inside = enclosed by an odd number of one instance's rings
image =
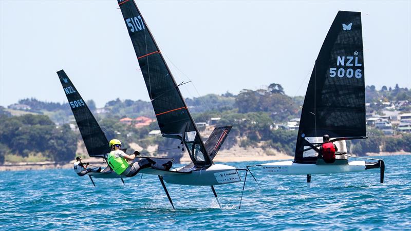
[[[339,11],[315,61],[305,94],[294,161],[254,165],[265,174],[337,174],[380,168],[384,161],[347,155],[346,140],[367,139],[362,25],[360,12]],[[334,163],[319,158],[323,135],[338,151]],[[351,158],[365,161],[349,161]],[[368,162],[371,160],[372,162]],[[248,166],[251,167],[251,166]]]

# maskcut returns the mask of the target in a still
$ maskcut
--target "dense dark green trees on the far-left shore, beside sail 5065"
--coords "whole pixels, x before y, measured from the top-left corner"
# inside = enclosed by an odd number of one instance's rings
[[[13,153],[27,158],[41,153],[47,160],[67,162],[73,159],[78,134],[68,124],[57,127],[47,115],[0,116],[0,163]]]

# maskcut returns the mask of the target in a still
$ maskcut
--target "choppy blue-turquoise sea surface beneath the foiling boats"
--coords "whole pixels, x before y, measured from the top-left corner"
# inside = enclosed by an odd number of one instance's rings
[[[337,175],[247,176],[209,186],[167,184],[156,176],[78,177],[72,169],[0,172],[0,230],[411,230],[411,156],[382,157],[379,169]],[[244,168],[261,162],[233,162]],[[265,162],[267,163],[267,162]],[[244,172],[241,172],[244,179]],[[141,179],[141,182],[140,182]]]

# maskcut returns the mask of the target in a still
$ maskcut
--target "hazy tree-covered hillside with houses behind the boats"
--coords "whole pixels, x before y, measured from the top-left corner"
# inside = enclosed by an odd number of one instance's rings
[[[230,136],[222,149],[230,149],[233,146],[272,148],[289,155],[294,153],[296,131],[281,128],[275,130],[275,128],[278,125],[286,124],[291,119],[300,118],[300,106],[303,101],[304,97],[286,95],[283,87],[279,84],[270,84],[266,89],[244,89],[237,95],[227,92],[221,95],[207,94],[198,98],[185,99],[196,122],[212,124],[212,126],[233,125]],[[366,102],[370,104],[367,107],[367,112],[379,112],[387,105],[411,102],[411,91],[407,88],[400,88],[398,85],[394,89],[384,86],[381,90],[377,90],[375,86],[366,86]],[[175,149],[178,146],[178,142],[148,136],[148,132],[151,130],[159,129],[157,122],[142,127],[135,127],[134,122],[129,124],[120,122],[120,119],[126,117],[144,116],[155,119],[150,102],[116,99],[107,102],[103,108],[96,108],[96,104],[92,100],[86,103],[94,113],[106,137],[108,139],[121,139],[124,141],[124,147],[128,147],[129,151],[134,151],[131,146],[136,147],[136,144],[144,148],[144,151],[151,150],[154,146],[162,150]],[[402,105],[404,106],[397,109],[403,112],[410,111],[411,104]],[[33,98],[23,99],[16,104],[9,105],[8,108],[0,107],[0,115],[2,120],[0,123],[0,150],[3,149],[0,151],[0,163],[7,155],[9,155],[7,156],[9,159],[26,161],[27,158],[33,156],[39,158],[39,155],[42,160],[69,160],[75,155],[86,155],[86,153],[75,153],[75,149],[74,151],[67,149],[81,139],[67,103],[42,102]],[[16,119],[16,116],[21,117],[23,121]],[[30,122],[27,122],[27,118]],[[211,120],[211,118],[215,118],[215,120]],[[33,121],[45,120],[48,120],[47,125],[33,126],[35,125]],[[58,126],[51,126],[51,121]],[[70,125],[71,129],[67,124],[72,124]],[[24,129],[22,130],[22,128]],[[20,130],[10,133],[10,129]],[[77,141],[70,140],[70,142],[65,143],[58,142],[59,145],[53,144],[53,142],[57,142],[54,141],[53,136],[58,137],[55,135],[55,132],[58,131],[66,132],[67,139],[76,137]],[[354,153],[364,155],[366,152],[379,152],[380,150],[405,150],[407,144],[411,142],[408,134],[386,137],[377,129],[367,128],[367,131],[370,139],[348,142],[349,146],[353,145]],[[43,137],[43,140],[39,140],[38,137]],[[39,140],[39,142],[30,143],[32,140]],[[41,146],[43,142],[47,142],[50,146]],[[84,148],[77,150],[84,150]],[[64,153],[64,157],[54,157],[54,152]],[[160,154],[178,158],[181,157],[182,152],[169,150]]]

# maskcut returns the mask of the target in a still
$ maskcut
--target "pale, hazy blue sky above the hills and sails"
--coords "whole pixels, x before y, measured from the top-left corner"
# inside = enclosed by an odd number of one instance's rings
[[[304,95],[339,10],[362,12],[365,84],[411,88],[411,1],[136,1],[184,97],[281,84]],[[0,0],[0,105],[148,101],[116,0]]]

